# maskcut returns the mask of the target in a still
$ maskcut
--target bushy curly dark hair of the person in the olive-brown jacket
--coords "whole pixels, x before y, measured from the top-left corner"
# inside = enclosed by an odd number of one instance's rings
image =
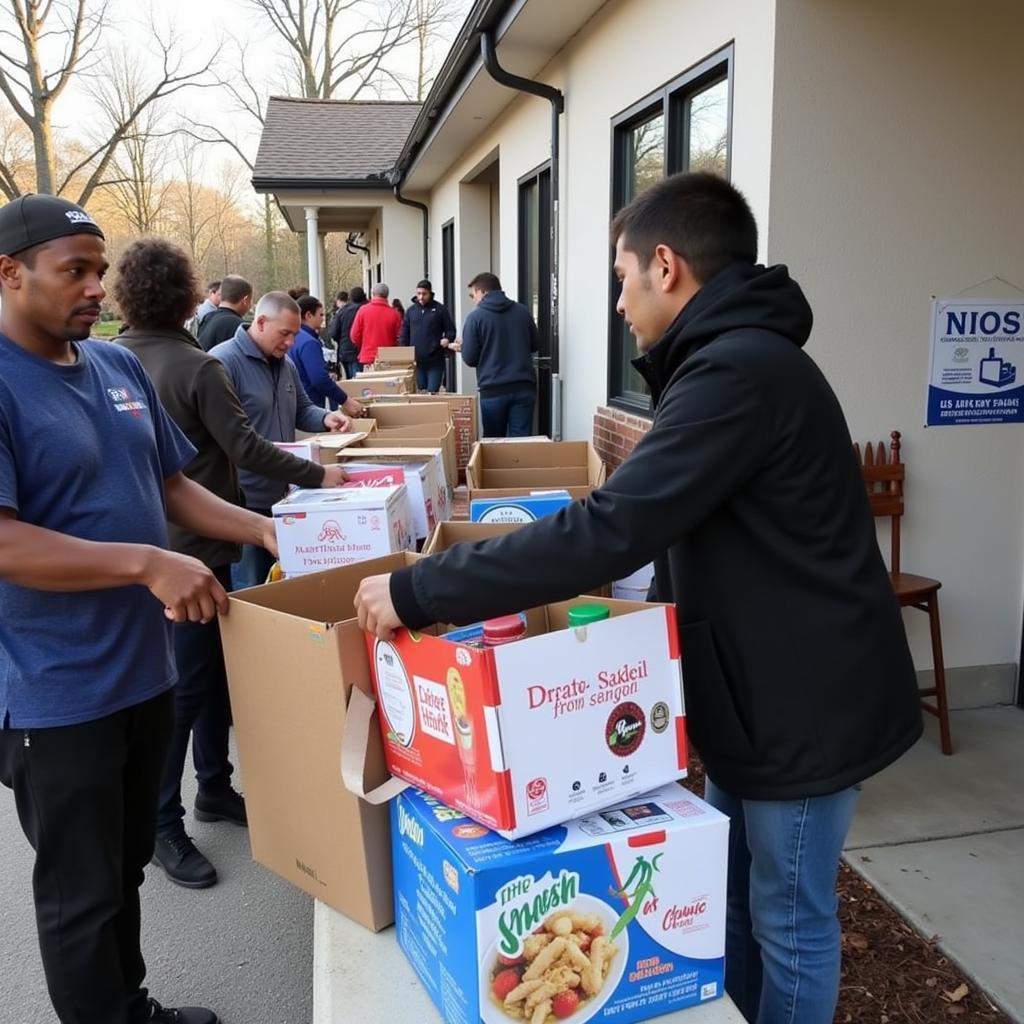
[[[180,328],[195,311],[198,292],[191,259],[167,239],[139,239],[118,260],[114,301],[132,327]]]

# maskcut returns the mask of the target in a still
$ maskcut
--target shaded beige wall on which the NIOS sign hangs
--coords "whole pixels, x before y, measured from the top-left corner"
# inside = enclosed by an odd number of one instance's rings
[[[923,428],[932,296],[1024,288],[1017,0],[778,0],[768,258],[815,312],[808,351],[855,438],[903,433],[903,566],[943,582],[947,666],[1021,642],[1020,426]],[[992,283],[978,297],[1016,296]],[[926,616],[905,614],[919,666]]]

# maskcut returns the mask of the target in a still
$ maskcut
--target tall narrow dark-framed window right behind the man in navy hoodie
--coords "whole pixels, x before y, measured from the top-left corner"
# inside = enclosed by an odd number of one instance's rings
[[[538,429],[551,431],[551,165],[519,179],[519,301],[541,337]]]

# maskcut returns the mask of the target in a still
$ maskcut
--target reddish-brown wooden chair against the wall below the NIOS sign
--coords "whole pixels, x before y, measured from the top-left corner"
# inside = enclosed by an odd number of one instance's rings
[[[876,518],[887,516],[891,524],[891,554],[889,575],[893,590],[902,608],[916,608],[928,615],[932,631],[932,659],[935,665],[935,685],[921,691],[921,707],[939,720],[942,753],[952,754],[953,744],[949,735],[949,709],[946,705],[946,674],[942,660],[942,633],[939,628],[938,580],[910,575],[900,571],[900,519],[903,517],[903,481],[906,467],[900,460],[900,432],[890,434],[888,453],[884,441],[872,447],[868,442],[861,454],[859,444],[853,450],[860,464],[867,498],[871,503],[871,514]],[[934,702],[931,699],[934,698]]]

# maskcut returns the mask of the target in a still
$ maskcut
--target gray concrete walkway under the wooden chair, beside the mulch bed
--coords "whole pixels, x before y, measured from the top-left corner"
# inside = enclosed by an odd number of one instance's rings
[[[1024,712],[951,715],[864,784],[846,859],[1014,1021],[1024,1022]]]

